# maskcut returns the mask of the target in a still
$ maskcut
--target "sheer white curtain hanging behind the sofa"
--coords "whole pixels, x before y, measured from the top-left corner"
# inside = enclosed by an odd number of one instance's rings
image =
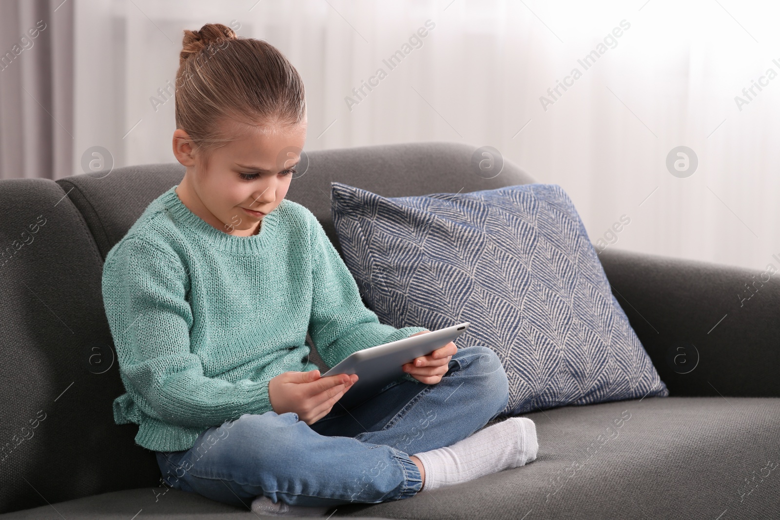
[[[608,247],[780,268],[780,77],[741,110],[735,101],[767,69],[780,74],[778,11],[736,0],[79,0],[73,168],[93,146],[116,166],[174,161],[173,101],[155,112],[150,97],[174,83],[183,29],[235,20],[303,76],[307,150],[490,145],[566,189],[594,242],[625,214]],[[427,19],[422,46],[389,70],[382,59]],[[585,70],[577,59],[624,19]],[[350,111],[345,97],[379,67],[388,76]],[[544,110],[540,97],[574,67],[582,76]],[[699,161],[685,179],[665,165],[680,145]]]

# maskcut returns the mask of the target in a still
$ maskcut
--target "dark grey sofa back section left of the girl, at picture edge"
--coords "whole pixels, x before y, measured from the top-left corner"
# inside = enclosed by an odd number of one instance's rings
[[[46,179],[0,181],[0,212],[0,513],[153,483],[112,426],[122,382],[86,222]]]

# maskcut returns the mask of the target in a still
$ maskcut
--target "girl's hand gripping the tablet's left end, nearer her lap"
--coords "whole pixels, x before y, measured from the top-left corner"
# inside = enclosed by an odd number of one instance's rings
[[[268,381],[268,399],[274,412],[296,412],[311,426],[327,416],[356,381],[356,373],[328,377],[321,377],[319,370],[280,373]]]

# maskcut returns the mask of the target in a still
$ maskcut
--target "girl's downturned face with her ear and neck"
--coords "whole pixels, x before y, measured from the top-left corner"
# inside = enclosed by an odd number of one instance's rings
[[[259,132],[247,130],[211,151],[205,165],[193,153],[190,136],[176,129],[173,153],[187,168],[176,194],[215,228],[229,235],[255,235],[264,216],[287,194],[306,129],[304,122],[294,127],[264,126]]]

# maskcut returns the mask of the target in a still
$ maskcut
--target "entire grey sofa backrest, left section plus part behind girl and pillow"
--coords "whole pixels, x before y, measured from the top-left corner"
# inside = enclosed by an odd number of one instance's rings
[[[317,216],[340,252],[332,181],[383,196],[533,182],[508,161],[486,179],[474,168],[475,150],[461,143],[404,143],[314,151],[287,198]],[[57,182],[0,181],[0,513],[159,486],[154,453],[135,444],[137,426],[113,420],[112,401],[124,387],[101,273],[112,246],[183,175],[183,166],[171,163]]]

